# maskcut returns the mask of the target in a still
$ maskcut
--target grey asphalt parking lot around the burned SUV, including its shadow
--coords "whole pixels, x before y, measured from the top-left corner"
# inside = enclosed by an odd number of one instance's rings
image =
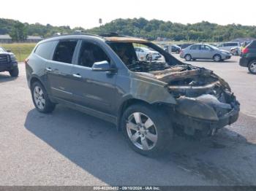
[[[175,55],[178,58],[178,55]],[[0,74],[1,185],[256,185],[256,76],[238,57],[192,61],[229,82],[238,121],[201,141],[175,137],[167,155],[149,158],[128,147],[110,123],[64,106],[34,109],[20,77]]]

